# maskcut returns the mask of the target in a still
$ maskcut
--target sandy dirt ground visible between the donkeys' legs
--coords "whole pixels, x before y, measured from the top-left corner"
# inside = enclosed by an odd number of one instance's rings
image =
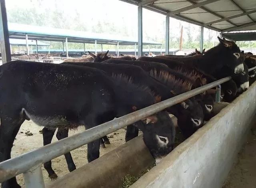
[[[25,121],[20,127],[20,131],[16,136],[16,140],[14,141],[14,146],[12,148],[12,158],[43,146],[43,137],[42,137],[42,134],[39,133],[39,131],[42,130],[42,128],[43,127],[39,127],[38,125],[34,124],[32,121]],[[30,133],[32,133],[33,135],[26,136],[25,135],[26,131],[30,131]],[[74,131],[74,130],[69,131],[69,135],[74,135],[82,131],[84,131],[84,127],[79,127],[77,131]],[[120,129],[114,133],[111,133],[108,136],[112,137],[112,138],[109,138],[111,144],[106,145],[106,148],[100,148],[100,156],[106,154],[107,152],[110,152],[111,150],[120,146],[121,144],[124,144],[125,142],[124,129]],[[57,141],[56,135],[54,135],[52,142],[55,142],[55,141]],[[79,168],[82,165],[88,163],[87,145],[71,151],[71,154],[72,154],[74,163],[76,164],[76,168]],[[58,158],[55,158],[52,160],[52,168],[54,169],[58,177],[64,176],[69,172],[64,155],[59,156]],[[48,173],[44,169],[43,165],[42,165],[42,172],[43,172],[45,184],[47,184],[50,181],[54,181],[48,178]],[[17,176],[17,180],[18,180],[18,183],[22,186],[22,188],[25,188],[22,174]],[[0,185],[0,188],[1,188],[1,185]]]

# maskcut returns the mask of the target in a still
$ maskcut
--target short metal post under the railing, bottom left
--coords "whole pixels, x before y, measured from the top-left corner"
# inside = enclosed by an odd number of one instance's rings
[[[34,166],[23,174],[26,188],[44,188],[44,178],[41,165]]]

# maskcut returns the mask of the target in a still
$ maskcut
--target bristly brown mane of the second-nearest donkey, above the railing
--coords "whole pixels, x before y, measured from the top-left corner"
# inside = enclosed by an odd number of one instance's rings
[[[181,79],[176,79],[176,77],[166,71],[156,71],[156,69],[150,70],[149,74],[157,79],[158,81],[161,81],[162,83],[168,85],[171,90],[174,90],[176,94],[184,93],[186,91],[191,90],[192,83],[189,81],[183,81]]]

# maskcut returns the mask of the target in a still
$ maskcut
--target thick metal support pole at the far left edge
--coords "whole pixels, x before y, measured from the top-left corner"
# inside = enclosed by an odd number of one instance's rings
[[[0,0],[0,46],[2,53],[2,63],[12,60],[10,51],[9,31],[6,16],[5,0]]]

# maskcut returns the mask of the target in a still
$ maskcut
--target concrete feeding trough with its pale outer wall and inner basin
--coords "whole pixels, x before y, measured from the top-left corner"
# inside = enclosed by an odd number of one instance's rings
[[[130,188],[221,187],[254,121],[255,97],[256,83],[232,103],[215,104],[216,115],[204,127]],[[136,176],[153,163],[139,136],[47,187],[119,188],[126,174]]]

